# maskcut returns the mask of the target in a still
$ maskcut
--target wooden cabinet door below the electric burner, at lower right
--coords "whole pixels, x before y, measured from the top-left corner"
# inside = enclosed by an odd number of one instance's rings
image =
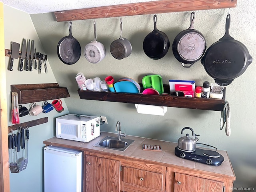
[[[174,192],[223,192],[223,182],[175,173]]]

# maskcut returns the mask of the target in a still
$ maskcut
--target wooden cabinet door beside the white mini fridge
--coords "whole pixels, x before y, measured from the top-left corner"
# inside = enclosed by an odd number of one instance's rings
[[[119,192],[120,161],[86,156],[86,192]]]

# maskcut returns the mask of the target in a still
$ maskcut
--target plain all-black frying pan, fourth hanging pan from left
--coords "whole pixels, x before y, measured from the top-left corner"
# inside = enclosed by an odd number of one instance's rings
[[[154,15],[154,30],[143,41],[143,50],[151,59],[163,58],[170,47],[168,36],[156,28],[156,15]]]

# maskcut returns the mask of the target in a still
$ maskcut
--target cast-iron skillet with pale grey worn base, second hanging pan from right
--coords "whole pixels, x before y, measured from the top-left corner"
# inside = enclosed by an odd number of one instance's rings
[[[194,29],[195,12],[190,16],[190,27],[180,32],[172,43],[172,52],[183,67],[191,67],[200,60],[206,50],[206,41],[202,33]]]

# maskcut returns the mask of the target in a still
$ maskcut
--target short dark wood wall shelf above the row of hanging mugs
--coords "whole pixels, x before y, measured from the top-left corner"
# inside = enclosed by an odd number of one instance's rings
[[[68,89],[58,83],[11,85],[11,92],[18,93],[19,104],[70,97]]]

